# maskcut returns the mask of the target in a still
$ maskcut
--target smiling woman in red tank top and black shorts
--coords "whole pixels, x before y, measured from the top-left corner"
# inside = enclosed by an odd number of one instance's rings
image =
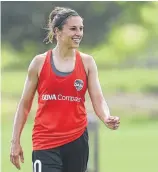
[[[33,58],[15,114],[11,162],[24,161],[21,132],[38,92],[38,109],[32,133],[34,172],[85,172],[89,146],[85,93],[88,89],[96,115],[110,129],[112,117],[103,97],[93,57],[77,51],[83,37],[83,19],[68,8],[56,7],[49,15],[48,42],[56,47]]]

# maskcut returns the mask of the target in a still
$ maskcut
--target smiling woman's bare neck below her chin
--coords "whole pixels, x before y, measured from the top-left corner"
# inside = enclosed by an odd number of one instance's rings
[[[54,53],[57,57],[60,57],[62,59],[68,59],[74,57],[75,49],[57,44],[54,48]]]

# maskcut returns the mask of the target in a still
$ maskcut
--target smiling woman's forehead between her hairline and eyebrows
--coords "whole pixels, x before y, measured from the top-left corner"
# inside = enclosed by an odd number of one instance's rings
[[[67,26],[83,26],[83,19],[80,16],[71,16],[67,19]]]

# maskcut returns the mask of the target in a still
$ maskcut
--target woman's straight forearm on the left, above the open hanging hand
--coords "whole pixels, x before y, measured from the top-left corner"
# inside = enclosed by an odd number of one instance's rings
[[[31,108],[31,105],[25,105],[23,102],[19,103],[17,112],[14,117],[12,142],[20,143],[21,132],[26,123],[30,108]]]

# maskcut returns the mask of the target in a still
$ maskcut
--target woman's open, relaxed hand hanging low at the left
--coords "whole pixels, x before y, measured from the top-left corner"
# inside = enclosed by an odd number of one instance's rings
[[[20,170],[20,162],[19,158],[22,163],[24,163],[24,156],[23,151],[19,143],[12,143],[11,144],[11,151],[10,151],[10,161],[15,165],[17,169]]]

